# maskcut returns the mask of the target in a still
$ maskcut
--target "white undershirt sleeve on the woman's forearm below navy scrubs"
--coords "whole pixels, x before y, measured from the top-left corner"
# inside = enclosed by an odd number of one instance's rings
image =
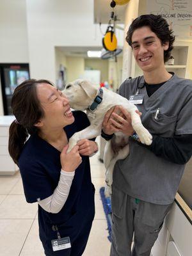
[[[58,186],[56,187],[56,189],[54,189],[54,193],[51,196],[45,198],[44,200],[40,200],[38,204],[47,212],[60,212],[63,208],[63,205],[67,201],[74,175],[75,171],[65,172],[61,170],[60,180]]]

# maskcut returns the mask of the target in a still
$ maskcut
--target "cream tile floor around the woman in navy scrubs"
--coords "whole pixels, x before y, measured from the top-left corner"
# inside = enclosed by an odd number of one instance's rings
[[[99,189],[104,186],[104,166],[97,158],[98,154],[90,158],[96,212],[83,256],[108,256],[110,250],[99,195]],[[44,256],[38,238],[37,204],[26,203],[19,172],[0,176],[0,256]]]

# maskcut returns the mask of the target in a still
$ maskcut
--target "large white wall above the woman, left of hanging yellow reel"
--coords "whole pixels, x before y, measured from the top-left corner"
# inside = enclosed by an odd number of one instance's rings
[[[93,1],[26,0],[26,4],[31,77],[56,81],[55,46],[102,45],[99,25],[93,24]]]

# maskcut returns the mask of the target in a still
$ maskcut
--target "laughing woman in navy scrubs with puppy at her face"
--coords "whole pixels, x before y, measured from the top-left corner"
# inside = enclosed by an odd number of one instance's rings
[[[65,95],[46,80],[20,84],[12,109],[16,120],[10,126],[9,152],[19,166],[27,202],[38,202],[45,255],[80,256],[95,214],[89,156],[98,148],[95,141],[80,140],[67,153],[67,144],[90,125],[88,118],[81,111],[72,113]]]

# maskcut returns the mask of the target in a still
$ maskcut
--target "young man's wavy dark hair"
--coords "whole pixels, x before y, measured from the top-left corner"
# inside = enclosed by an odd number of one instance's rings
[[[132,46],[132,34],[133,32],[141,27],[147,26],[154,32],[159,40],[161,40],[161,44],[169,43],[169,47],[166,51],[164,51],[164,62],[168,61],[171,55],[171,51],[173,49],[173,42],[175,41],[175,36],[173,36],[172,29],[169,29],[169,25],[165,19],[161,17],[161,15],[147,14],[141,15],[140,17],[133,20],[129,30],[127,32],[127,36],[125,40],[127,43]]]

